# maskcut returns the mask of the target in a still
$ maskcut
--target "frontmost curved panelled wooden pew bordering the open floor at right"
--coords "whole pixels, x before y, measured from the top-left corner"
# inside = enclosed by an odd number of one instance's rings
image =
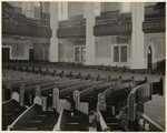
[[[136,86],[128,95],[128,121],[129,129],[135,131],[157,131],[165,129],[145,114],[144,103],[150,101],[153,85],[150,82]]]

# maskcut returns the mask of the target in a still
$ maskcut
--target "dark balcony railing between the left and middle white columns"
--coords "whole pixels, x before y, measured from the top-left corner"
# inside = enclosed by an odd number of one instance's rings
[[[73,37],[85,37],[86,27],[76,27],[76,28],[61,28],[57,31],[58,38],[73,38]]]

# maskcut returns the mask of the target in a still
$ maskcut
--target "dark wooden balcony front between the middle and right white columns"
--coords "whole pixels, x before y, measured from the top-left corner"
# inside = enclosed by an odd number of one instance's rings
[[[94,28],[94,34],[99,35],[119,35],[131,33],[131,21],[108,21],[107,23],[97,23]]]

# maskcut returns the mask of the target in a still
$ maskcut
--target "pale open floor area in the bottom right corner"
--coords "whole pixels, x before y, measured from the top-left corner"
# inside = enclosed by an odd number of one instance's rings
[[[145,114],[165,127],[165,96],[153,95],[153,100],[145,103]]]

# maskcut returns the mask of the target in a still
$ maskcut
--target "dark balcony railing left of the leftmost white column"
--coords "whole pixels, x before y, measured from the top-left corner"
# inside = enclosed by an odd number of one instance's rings
[[[2,34],[51,38],[51,29],[48,27],[17,23],[11,20],[2,20]]]

